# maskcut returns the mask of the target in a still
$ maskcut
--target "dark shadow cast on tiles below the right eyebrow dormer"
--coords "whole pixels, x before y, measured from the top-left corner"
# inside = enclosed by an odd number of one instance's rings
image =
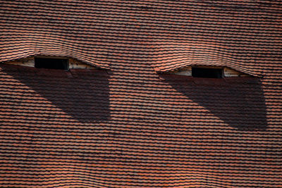
[[[266,104],[260,80],[161,74],[164,82],[238,130],[266,130]]]

